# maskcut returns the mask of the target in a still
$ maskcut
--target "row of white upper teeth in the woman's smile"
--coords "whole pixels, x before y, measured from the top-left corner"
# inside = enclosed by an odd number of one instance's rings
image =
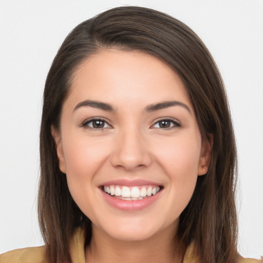
[[[155,195],[160,191],[159,186],[142,186],[139,189],[138,186],[127,187],[119,185],[105,185],[104,192],[110,195],[122,196],[122,197],[145,197]]]

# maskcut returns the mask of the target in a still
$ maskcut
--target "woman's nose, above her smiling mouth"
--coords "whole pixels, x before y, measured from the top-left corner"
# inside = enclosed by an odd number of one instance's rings
[[[138,130],[123,130],[117,135],[114,145],[111,164],[115,167],[123,167],[127,171],[133,171],[152,163],[149,147]]]

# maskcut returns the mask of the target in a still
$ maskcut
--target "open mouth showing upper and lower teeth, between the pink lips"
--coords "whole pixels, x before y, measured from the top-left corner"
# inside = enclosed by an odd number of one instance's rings
[[[102,190],[104,193],[121,200],[137,201],[142,200],[153,195],[156,195],[162,186],[156,185],[145,185],[145,186],[134,186],[127,187],[121,185],[104,185]]]

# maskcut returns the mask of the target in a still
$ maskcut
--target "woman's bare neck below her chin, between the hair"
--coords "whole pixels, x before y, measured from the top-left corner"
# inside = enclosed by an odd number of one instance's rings
[[[176,229],[172,230],[169,227],[145,240],[123,241],[93,226],[90,245],[85,249],[86,262],[182,263],[185,248],[179,248]]]

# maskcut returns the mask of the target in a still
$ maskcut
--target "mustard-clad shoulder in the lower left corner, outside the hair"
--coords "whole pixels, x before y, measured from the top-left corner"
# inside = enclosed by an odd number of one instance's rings
[[[0,263],[47,263],[45,246],[6,252],[0,255]]]

